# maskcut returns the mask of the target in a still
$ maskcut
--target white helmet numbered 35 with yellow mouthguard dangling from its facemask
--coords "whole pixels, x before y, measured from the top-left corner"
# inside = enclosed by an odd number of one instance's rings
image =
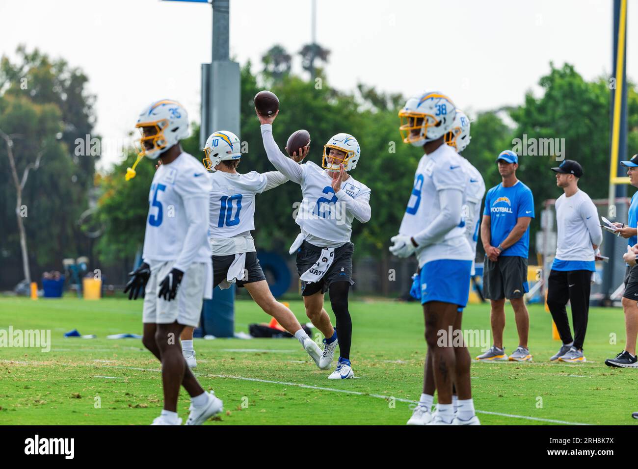
[[[155,101],[141,112],[135,127],[142,133],[138,156],[154,159],[163,150],[188,137],[188,113],[177,101]],[[144,135],[144,127],[154,127],[156,132]]]

